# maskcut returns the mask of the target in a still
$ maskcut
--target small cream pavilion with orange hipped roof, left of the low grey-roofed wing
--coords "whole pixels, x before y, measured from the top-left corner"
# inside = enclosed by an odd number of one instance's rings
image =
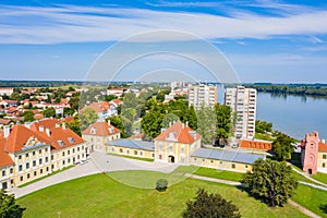
[[[120,130],[110,124],[110,121],[97,121],[82,132],[82,137],[87,142],[87,147],[106,150],[106,143],[120,138]]]

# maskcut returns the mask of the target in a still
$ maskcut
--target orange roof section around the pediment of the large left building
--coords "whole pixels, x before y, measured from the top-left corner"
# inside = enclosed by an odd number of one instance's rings
[[[31,137],[37,138],[40,143],[50,144],[50,141],[38,132],[32,131],[22,124],[16,124],[7,138],[4,150],[9,153],[20,152]]]

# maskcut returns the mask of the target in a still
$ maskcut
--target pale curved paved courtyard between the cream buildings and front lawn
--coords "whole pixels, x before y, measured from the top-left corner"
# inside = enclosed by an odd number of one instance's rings
[[[15,187],[9,193],[15,194],[16,197],[24,196],[37,190],[58,184],[64,181],[73,180],[89,174],[118,170],[153,170],[159,172],[171,172],[178,165],[166,162],[149,162],[130,158],[106,155],[105,152],[94,152],[88,161],[78,165],[58,174],[48,177],[24,187]]]

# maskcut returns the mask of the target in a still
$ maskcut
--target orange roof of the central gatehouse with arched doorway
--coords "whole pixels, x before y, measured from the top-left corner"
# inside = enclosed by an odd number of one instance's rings
[[[158,135],[155,141],[173,141],[183,144],[192,144],[198,138],[201,138],[199,134],[179,121]]]

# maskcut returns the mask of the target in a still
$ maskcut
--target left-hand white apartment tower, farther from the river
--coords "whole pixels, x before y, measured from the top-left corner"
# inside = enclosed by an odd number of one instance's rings
[[[218,89],[216,86],[199,84],[189,85],[189,106],[194,108],[214,107],[217,101]]]

